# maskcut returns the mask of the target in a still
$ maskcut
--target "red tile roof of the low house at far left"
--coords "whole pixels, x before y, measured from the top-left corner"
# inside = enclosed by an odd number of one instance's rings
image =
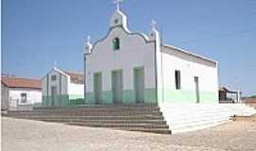
[[[1,76],[1,83],[9,88],[29,88],[41,90],[41,81],[17,76]]]

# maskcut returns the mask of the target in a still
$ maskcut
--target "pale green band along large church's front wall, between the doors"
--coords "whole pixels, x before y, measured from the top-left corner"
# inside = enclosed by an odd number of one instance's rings
[[[155,89],[144,89],[144,102],[145,104],[156,104]],[[94,92],[85,93],[85,104],[95,104]],[[113,104],[113,92],[103,91],[101,93],[101,104]],[[122,104],[137,104],[135,90],[122,91]]]

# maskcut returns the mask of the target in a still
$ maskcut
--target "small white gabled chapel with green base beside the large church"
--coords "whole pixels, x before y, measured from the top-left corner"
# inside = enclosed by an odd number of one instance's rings
[[[43,106],[84,104],[84,77],[54,68],[42,78]]]

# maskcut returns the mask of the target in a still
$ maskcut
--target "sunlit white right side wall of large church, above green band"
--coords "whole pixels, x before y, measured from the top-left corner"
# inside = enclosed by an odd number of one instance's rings
[[[194,76],[198,76],[199,91],[215,92],[216,97],[218,97],[217,64],[214,65],[213,62],[192,57],[169,47],[161,46],[161,52],[163,71],[162,74],[158,73],[158,76],[163,78],[164,89],[175,91],[174,72],[179,70],[181,73],[182,91],[195,92]],[[196,101],[194,100],[194,102]]]

